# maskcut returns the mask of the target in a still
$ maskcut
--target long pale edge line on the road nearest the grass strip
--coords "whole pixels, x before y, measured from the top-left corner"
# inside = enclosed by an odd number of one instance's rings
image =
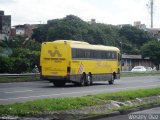
[[[115,91],[115,90],[126,90],[126,89],[131,89],[131,88],[147,88],[147,87],[157,87],[157,86],[159,86],[159,85],[136,86],[136,87],[126,87],[126,88],[112,88],[112,89],[103,89],[103,90],[92,90],[92,91],[59,93],[59,94],[49,94],[49,95],[39,95],[39,96],[6,98],[6,99],[0,99],[0,101],[4,101],[4,100],[17,100],[17,99],[28,99],[28,98],[40,98],[40,97],[51,97],[51,96],[61,96],[61,95],[72,95],[72,94],[82,94],[82,93],[94,93],[94,92],[104,92],[104,91]]]

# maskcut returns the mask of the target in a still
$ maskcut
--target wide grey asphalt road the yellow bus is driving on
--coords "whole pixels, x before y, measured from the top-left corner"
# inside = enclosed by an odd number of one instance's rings
[[[75,87],[72,84],[65,87],[54,87],[48,81],[0,83],[0,104],[153,87],[160,87],[160,76],[123,77],[115,80],[114,85],[109,85],[108,82],[98,82],[87,87]]]

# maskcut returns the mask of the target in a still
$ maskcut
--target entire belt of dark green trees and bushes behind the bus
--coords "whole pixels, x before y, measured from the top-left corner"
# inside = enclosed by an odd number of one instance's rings
[[[31,72],[34,65],[39,67],[41,43],[58,39],[111,45],[122,48],[122,53],[150,57],[156,65],[160,62],[158,52],[160,42],[147,31],[130,25],[119,27],[102,23],[91,24],[77,16],[68,15],[62,19],[49,20],[45,25],[39,25],[34,29],[31,39],[16,36],[1,41],[0,73]]]

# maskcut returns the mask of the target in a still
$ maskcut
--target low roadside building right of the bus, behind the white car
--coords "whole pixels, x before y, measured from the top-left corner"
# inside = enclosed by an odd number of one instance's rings
[[[155,67],[149,58],[142,55],[122,54],[122,71],[130,71],[134,66]]]

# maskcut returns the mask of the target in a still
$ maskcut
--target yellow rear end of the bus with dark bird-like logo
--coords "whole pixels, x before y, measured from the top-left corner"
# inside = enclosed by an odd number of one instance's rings
[[[41,74],[50,81],[67,79],[70,68],[70,47],[66,44],[46,42],[41,47]]]

